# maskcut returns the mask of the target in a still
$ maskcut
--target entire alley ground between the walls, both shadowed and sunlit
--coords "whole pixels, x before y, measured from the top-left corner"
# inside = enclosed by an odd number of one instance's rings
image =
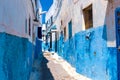
[[[30,80],[91,80],[78,74],[75,68],[56,53],[44,52],[41,57],[34,63]]]

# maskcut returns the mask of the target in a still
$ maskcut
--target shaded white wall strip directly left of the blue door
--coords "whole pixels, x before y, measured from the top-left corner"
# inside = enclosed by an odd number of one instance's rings
[[[106,9],[108,47],[116,46],[115,10],[117,7],[120,7],[120,0],[110,0]]]

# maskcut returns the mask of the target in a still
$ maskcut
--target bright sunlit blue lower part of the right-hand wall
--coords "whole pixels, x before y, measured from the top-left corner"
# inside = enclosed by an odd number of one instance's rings
[[[60,36],[58,54],[92,80],[117,80],[117,51],[107,47],[106,37],[106,26],[81,31],[66,42]]]

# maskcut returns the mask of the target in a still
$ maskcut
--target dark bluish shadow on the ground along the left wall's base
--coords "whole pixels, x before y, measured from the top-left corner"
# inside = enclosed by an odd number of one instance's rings
[[[52,73],[47,67],[48,60],[41,54],[34,61],[30,80],[54,80]]]

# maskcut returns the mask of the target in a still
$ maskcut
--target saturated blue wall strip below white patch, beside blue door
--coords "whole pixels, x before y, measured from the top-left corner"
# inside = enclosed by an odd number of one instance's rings
[[[117,64],[117,49],[115,47],[108,47],[108,60],[106,68],[109,80],[118,80]]]

